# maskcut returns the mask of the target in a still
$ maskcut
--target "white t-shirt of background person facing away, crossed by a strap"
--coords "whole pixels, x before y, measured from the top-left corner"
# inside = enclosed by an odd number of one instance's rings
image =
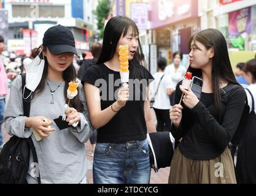
[[[157,86],[163,74],[163,72],[157,72],[153,75],[153,78],[155,78],[155,80],[150,83],[150,91],[152,93],[152,96],[155,95],[155,92],[157,91]],[[171,80],[171,77],[165,74],[165,76],[161,80],[157,95],[155,96],[155,103],[153,104],[153,108],[157,108],[160,110],[169,110],[171,108],[169,96],[167,95],[167,89],[172,88],[172,86],[173,81]]]

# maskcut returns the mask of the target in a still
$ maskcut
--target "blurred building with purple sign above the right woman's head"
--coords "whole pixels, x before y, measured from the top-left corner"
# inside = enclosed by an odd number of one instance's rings
[[[199,1],[201,29],[219,29],[230,51],[256,51],[255,0]]]

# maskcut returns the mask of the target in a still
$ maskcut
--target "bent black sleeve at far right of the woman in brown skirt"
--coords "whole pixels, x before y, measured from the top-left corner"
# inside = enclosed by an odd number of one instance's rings
[[[223,116],[222,124],[219,124],[204,104],[198,102],[192,113],[196,115],[200,126],[211,136],[219,148],[225,148],[238,128],[238,124],[244,109],[246,92],[242,86],[233,88],[228,95],[228,102]]]

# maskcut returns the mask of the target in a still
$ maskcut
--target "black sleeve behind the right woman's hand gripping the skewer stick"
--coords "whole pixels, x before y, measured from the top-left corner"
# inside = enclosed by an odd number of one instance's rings
[[[179,104],[180,98],[182,96],[182,92],[179,89],[179,85],[181,85],[181,83],[182,83],[182,81],[179,81],[176,86],[175,104]],[[184,107],[183,102],[182,102],[182,107]],[[182,138],[184,136],[184,131],[183,131],[184,129],[183,129],[182,124],[184,123],[185,119],[183,118],[183,116],[184,116],[183,113],[184,113],[184,111],[182,111],[182,121],[180,121],[179,127],[175,128],[173,124],[171,126],[171,134],[173,135],[173,137],[176,140],[179,140],[180,138]]]

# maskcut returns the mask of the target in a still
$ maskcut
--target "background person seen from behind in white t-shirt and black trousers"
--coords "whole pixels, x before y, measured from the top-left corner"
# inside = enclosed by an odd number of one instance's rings
[[[173,94],[173,81],[163,70],[167,65],[166,58],[157,59],[158,71],[153,75],[155,80],[150,84],[152,96],[155,97],[153,110],[157,116],[157,131],[169,131],[171,129],[171,120],[169,119],[169,110],[171,108],[169,96]],[[159,86],[159,88],[158,88]],[[158,89],[158,90],[157,90]]]

